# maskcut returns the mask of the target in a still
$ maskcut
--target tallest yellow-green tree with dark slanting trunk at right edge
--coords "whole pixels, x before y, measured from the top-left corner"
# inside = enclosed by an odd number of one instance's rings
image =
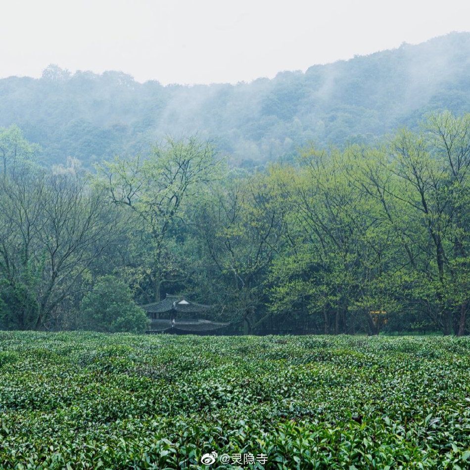
[[[358,188],[393,234],[395,289],[445,333],[464,334],[469,304],[470,116],[437,113],[420,133],[355,157]],[[389,269],[389,273],[392,269]]]

